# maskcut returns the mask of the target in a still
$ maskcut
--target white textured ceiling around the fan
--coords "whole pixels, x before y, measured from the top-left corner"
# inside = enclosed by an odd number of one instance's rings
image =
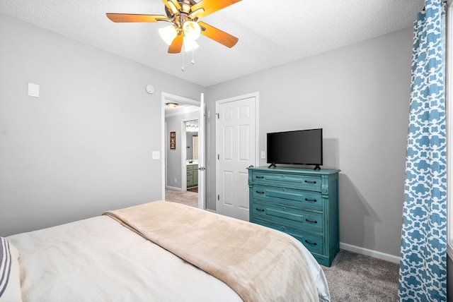
[[[168,54],[159,28],[105,13],[165,14],[160,0],[0,0],[0,12],[204,87],[411,27],[423,0],[243,0],[202,18],[239,38],[229,49],[200,37]]]

